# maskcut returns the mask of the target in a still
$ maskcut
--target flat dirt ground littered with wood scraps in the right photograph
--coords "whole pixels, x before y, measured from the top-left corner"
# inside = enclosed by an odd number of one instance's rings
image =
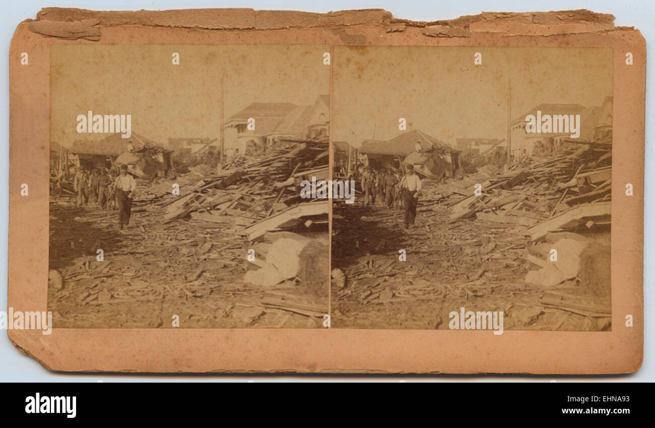
[[[345,286],[331,289],[333,328],[449,328],[449,313],[504,311],[505,330],[610,330],[609,298],[569,280],[526,284],[531,241],[512,225],[460,220],[419,199],[413,228],[403,210],[333,204],[332,269]],[[407,254],[399,261],[399,250]]]

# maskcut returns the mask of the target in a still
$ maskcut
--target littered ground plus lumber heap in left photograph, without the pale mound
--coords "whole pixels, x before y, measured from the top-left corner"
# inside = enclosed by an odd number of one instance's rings
[[[116,210],[94,203],[77,208],[69,193],[53,198],[48,310],[54,326],[172,327],[178,315],[181,327],[322,327],[327,203],[301,200],[295,185],[298,174],[318,167],[327,168],[325,139],[287,142],[219,171],[198,166],[184,176],[140,182],[130,227],[122,231]],[[285,221],[271,220],[280,218]],[[244,280],[266,265],[267,248],[285,233],[325,243],[323,290],[320,277],[300,272],[265,285]],[[299,254],[299,263],[320,258],[303,261]]]

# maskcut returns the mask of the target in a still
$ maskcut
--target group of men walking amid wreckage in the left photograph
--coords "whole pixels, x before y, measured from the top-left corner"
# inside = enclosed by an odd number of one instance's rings
[[[115,176],[113,171],[92,168],[90,171],[81,166],[73,179],[77,193],[77,206],[88,204],[91,197],[103,210],[114,208],[118,204],[119,226],[121,229],[130,225],[132,199],[136,192],[136,180],[128,173],[128,166],[121,165],[121,174]]]

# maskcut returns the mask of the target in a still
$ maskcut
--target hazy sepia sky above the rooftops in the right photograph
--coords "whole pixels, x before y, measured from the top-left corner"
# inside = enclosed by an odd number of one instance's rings
[[[333,140],[359,146],[418,128],[449,138],[506,138],[541,103],[600,106],[612,95],[611,48],[334,47]],[[474,65],[481,52],[482,64]]]

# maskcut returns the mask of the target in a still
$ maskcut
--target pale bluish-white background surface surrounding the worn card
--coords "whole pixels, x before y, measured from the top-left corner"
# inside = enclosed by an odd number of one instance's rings
[[[610,13],[616,19],[616,26],[633,26],[646,39],[648,58],[655,58],[653,45],[655,43],[655,2],[650,1],[402,1],[402,0],[331,0],[331,1],[12,1],[3,5],[0,14],[0,58],[9,58],[9,43],[16,26],[23,20],[36,18],[42,7],[79,7],[93,10],[164,10],[248,7],[252,9],[269,10],[304,10],[307,12],[329,12],[331,10],[348,9],[386,9],[396,18],[406,18],[419,21],[433,21],[457,18],[463,15],[474,15],[480,12],[530,12],[548,10],[589,9],[594,12]],[[0,180],[9,183],[9,67],[0,68]],[[112,375],[112,374],[58,374],[48,372],[35,360],[26,357],[12,345],[7,338],[7,332],[0,331],[0,381],[655,381],[655,359],[653,357],[655,334],[654,294],[652,281],[654,279],[654,250],[652,238],[654,214],[652,181],[655,179],[650,168],[655,166],[653,149],[650,140],[653,136],[653,102],[649,96],[653,87],[652,66],[646,68],[646,168],[645,168],[645,248],[644,248],[644,312],[645,312],[645,343],[644,362],[641,370],[627,376],[608,377],[557,377],[557,376],[385,376],[362,377],[352,376],[160,376],[160,375]],[[5,185],[5,191],[8,191]],[[7,198],[0,201],[0,308],[7,310],[7,229],[9,225],[9,203]],[[29,243],[25,243],[29,245]],[[29,269],[29,266],[26,266]],[[13,284],[20,286],[20,284]],[[612,284],[620,286],[620,284]],[[637,320],[637,322],[639,322]],[[191,352],[191,350],[189,350]]]

